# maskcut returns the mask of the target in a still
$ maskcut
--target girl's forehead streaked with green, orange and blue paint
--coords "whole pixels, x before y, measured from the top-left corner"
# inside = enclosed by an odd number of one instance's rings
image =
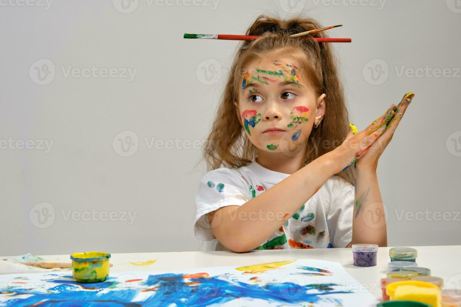
[[[248,86],[270,85],[276,82],[301,87],[299,67],[294,63],[274,60],[265,67],[250,68],[243,76],[242,90]]]

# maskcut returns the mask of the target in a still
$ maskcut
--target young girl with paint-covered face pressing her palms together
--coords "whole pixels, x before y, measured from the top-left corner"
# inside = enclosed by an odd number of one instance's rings
[[[348,133],[330,43],[290,36],[320,28],[261,15],[247,30],[261,37],[231,66],[195,197],[195,236],[216,250],[387,245],[376,168],[414,94]]]

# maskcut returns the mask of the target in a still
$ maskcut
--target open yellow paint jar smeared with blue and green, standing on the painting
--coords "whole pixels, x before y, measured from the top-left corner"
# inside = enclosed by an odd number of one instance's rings
[[[109,258],[111,254],[101,252],[74,253],[72,259],[72,277],[79,283],[97,283],[109,276]]]

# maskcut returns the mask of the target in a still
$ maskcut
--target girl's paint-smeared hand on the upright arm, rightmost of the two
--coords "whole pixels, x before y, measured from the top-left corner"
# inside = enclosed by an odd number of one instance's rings
[[[360,160],[355,162],[355,166],[357,168],[376,170],[378,167],[379,157],[392,139],[392,136],[394,135],[394,132],[396,131],[396,128],[413,97],[414,93],[410,92],[405,94],[397,106],[392,104],[384,115],[380,116],[366,128],[370,133],[373,133],[382,127],[383,124],[387,125],[384,133],[382,133],[376,142],[367,148],[366,153],[361,156]]]

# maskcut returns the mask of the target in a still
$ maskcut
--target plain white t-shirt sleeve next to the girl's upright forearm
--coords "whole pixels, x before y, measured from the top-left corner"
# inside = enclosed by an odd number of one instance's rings
[[[354,211],[355,187],[346,180],[341,182],[339,193],[327,213],[326,222],[330,232],[331,247],[346,247],[352,242],[352,215]]]

